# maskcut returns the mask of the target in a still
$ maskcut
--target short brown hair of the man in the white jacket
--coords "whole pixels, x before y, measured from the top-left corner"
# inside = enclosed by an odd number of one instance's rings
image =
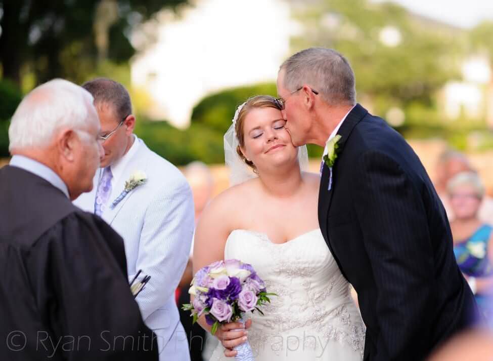
[[[105,77],[99,77],[82,84],[91,93],[96,106],[111,104],[116,116],[121,120],[132,113],[130,95],[123,85]]]

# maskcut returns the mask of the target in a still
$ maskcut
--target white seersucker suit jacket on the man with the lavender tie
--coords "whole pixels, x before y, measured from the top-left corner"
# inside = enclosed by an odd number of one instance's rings
[[[136,300],[146,325],[156,330],[166,344],[180,323],[174,295],[190,253],[193,197],[188,182],[176,167],[151,151],[141,139],[136,137],[135,141],[139,142],[137,152],[112,187],[102,218],[124,240],[129,281],[139,269],[139,280],[144,275],[151,276]],[[135,171],[145,172],[147,182],[110,209]],[[94,213],[100,175],[101,169],[96,172],[93,190],[80,195],[74,200],[75,205]],[[180,338],[186,339],[183,335]]]

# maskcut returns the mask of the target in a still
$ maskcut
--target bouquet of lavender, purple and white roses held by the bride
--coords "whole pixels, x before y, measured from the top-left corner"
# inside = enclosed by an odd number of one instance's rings
[[[263,280],[248,263],[236,259],[217,261],[201,268],[192,280],[189,293],[194,296],[190,304],[183,305],[184,310],[192,311],[193,323],[204,314],[211,333],[215,334],[221,324],[244,322],[245,312],[257,310],[258,306],[271,302]],[[235,347],[237,361],[253,360],[248,342]]]

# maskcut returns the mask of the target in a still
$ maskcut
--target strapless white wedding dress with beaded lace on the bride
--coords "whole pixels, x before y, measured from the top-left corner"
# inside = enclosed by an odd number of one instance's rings
[[[275,244],[263,233],[234,230],[225,259],[250,263],[265,282],[271,304],[264,316],[248,313],[248,341],[255,361],[363,359],[365,326],[349,284],[320,229]],[[233,361],[219,343],[210,361]]]

